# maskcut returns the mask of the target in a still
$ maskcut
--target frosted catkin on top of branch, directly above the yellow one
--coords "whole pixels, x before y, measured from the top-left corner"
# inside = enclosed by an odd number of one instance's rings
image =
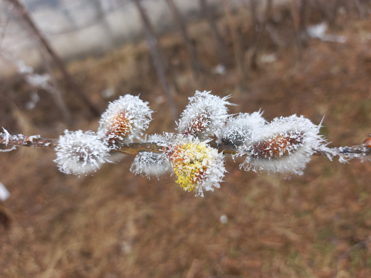
[[[210,95],[210,92],[199,92],[189,97],[178,124],[178,132],[183,135],[193,135],[200,139],[207,139],[219,135],[221,127],[229,115],[226,105],[230,96],[220,98]]]

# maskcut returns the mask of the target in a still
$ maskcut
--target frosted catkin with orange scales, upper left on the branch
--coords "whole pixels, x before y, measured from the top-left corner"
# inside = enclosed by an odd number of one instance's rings
[[[139,139],[148,128],[153,112],[138,96],[125,95],[109,103],[99,122],[98,136],[112,149]]]

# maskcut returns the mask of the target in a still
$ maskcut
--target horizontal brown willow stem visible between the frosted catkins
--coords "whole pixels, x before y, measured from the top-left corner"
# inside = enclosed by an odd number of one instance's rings
[[[6,130],[0,133],[0,143],[14,146],[26,146],[26,147],[41,147],[53,149],[58,146],[58,139],[41,138],[40,135],[11,135]],[[219,152],[236,154],[240,151],[235,145],[224,144],[217,142],[210,142],[209,145],[212,148],[218,149]],[[158,146],[155,142],[147,143],[129,143],[122,146],[120,149],[113,150],[114,152],[124,153],[126,155],[137,155],[139,152],[156,152],[161,153],[166,150],[166,147]],[[313,155],[321,155],[326,157],[340,157],[340,156],[352,156],[352,155],[370,155],[371,154],[371,137],[364,140],[361,145],[345,146],[338,148],[322,148],[314,150]]]

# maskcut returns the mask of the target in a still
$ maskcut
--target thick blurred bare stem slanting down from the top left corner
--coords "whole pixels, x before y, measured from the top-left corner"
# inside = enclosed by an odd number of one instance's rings
[[[19,13],[22,16],[23,20],[27,23],[27,25],[30,27],[35,36],[40,40],[42,46],[45,47],[46,51],[50,54],[56,66],[62,72],[67,86],[69,86],[70,89],[73,90],[73,92],[75,92],[76,95],[89,107],[89,110],[94,116],[99,116],[101,113],[99,112],[98,108],[95,107],[92,104],[92,102],[83,94],[79,85],[75,82],[75,80],[73,80],[72,76],[69,74],[65,63],[62,61],[62,59],[60,59],[59,55],[55,52],[53,47],[45,39],[43,34],[40,32],[39,28],[36,26],[35,22],[27,13],[26,9],[24,9],[22,3],[20,3],[19,0],[7,0],[7,1],[14,4],[14,6],[17,9],[19,9]]]

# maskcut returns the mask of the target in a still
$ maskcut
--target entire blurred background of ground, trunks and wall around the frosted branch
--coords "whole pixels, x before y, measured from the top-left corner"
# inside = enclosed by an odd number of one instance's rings
[[[139,95],[173,132],[195,90],[230,113],[294,113],[330,146],[370,136],[367,0],[1,0],[0,126],[58,138]],[[5,146],[1,146],[5,149]],[[370,277],[370,162],[313,157],[302,176],[226,158],[221,188],[174,176],[58,172],[55,152],[1,152],[1,277]]]

